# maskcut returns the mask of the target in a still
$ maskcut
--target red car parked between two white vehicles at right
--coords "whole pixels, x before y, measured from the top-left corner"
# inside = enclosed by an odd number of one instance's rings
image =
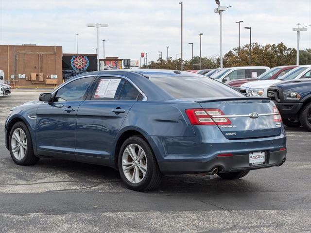
[[[257,78],[253,79],[238,79],[238,80],[232,80],[225,84],[231,86],[231,87],[239,87],[243,83],[249,83],[254,82],[258,80],[268,80],[268,79],[276,79],[278,77],[283,76],[291,69],[294,69],[297,66],[283,66],[283,67],[274,67],[272,69],[269,69],[268,71],[264,72],[263,74],[259,75]]]

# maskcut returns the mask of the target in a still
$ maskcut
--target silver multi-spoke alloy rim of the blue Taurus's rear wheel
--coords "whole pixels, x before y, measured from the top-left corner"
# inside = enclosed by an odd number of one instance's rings
[[[145,151],[137,144],[128,145],[122,155],[122,170],[131,183],[141,182],[147,172]]]

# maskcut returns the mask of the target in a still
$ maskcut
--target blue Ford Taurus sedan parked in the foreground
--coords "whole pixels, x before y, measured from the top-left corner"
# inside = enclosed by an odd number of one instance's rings
[[[17,165],[53,157],[111,166],[138,191],[155,188],[165,174],[238,179],[286,157],[273,101],[171,70],[78,75],[13,108],[5,133]]]

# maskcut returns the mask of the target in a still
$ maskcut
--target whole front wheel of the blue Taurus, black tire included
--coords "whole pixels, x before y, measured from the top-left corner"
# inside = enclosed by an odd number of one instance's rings
[[[23,122],[19,121],[13,125],[8,144],[11,157],[17,165],[27,166],[38,162],[39,158],[34,155],[30,132]]]

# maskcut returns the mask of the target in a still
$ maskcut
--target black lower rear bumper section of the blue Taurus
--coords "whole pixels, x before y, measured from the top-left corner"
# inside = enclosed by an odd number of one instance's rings
[[[209,172],[217,167],[221,172],[255,170],[271,166],[281,166],[286,159],[286,150],[266,151],[265,163],[258,166],[249,165],[249,154],[215,157],[205,162],[158,162],[163,174],[191,174]]]

